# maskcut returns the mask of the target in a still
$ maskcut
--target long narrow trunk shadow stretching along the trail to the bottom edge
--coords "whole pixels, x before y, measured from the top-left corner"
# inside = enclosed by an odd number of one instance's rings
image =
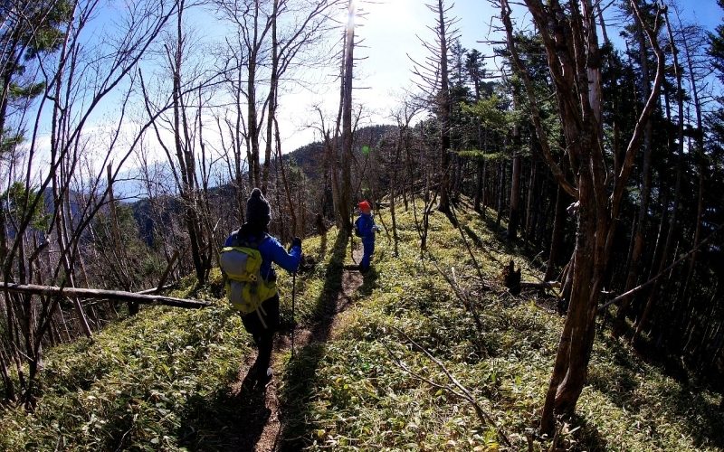
[[[314,317],[307,325],[313,341],[297,351],[285,372],[279,394],[280,405],[283,407],[280,412],[281,450],[300,450],[306,446],[312,434],[309,402],[317,386],[317,370],[325,354],[325,343],[337,315],[347,244],[348,237],[340,231],[332,248],[324,287],[315,304]]]

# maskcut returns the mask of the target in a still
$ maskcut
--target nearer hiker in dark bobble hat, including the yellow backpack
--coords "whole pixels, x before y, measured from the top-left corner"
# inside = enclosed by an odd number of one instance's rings
[[[279,327],[279,292],[272,264],[294,273],[301,259],[301,239],[295,237],[290,250],[284,250],[268,233],[270,221],[269,202],[254,188],[246,201],[246,222],[226,239],[220,256],[229,301],[259,348],[249,372],[260,386],[271,381],[271,348]]]

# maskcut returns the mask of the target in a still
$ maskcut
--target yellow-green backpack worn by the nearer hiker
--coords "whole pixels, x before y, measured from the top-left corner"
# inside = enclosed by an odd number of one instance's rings
[[[242,314],[256,311],[263,325],[259,310],[263,301],[276,295],[277,285],[262,278],[262,254],[248,247],[224,247],[219,254],[219,263],[226,275],[229,303]]]

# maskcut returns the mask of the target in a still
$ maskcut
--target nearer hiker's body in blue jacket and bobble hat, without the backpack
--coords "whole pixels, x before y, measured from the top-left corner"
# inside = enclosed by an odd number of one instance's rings
[[[271,221],[271,208],[264,198],[262,191],[254,188],[246,201],[246,222],[238,231],[233,233],[224,242],[224,247],[244,247],[259,250],[262,255],[262,283],[271,297],[262,301],[261,306],[250,313],[240,312],[246,331],[252,334],[254,343],[259,348],[253,368],[255,374],[252,379],[257,384],[265,386],[271,381],[271,349],[274,333],[279,328],[279,292],[276,290],[276,271],[272,263],[290,273],[296,272],[301,259],[301,239],[295,237],[291,240],[289,252],[284,250],[279,240],[268,233]]]

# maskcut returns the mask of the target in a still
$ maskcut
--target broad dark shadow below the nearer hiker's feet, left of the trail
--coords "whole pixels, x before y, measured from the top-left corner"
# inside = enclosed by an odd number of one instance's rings
[[[250,377],[233,391],[236,372],[230,372],[218,391],[186,400],[177,437],[189,450],[253,450],[271,411],[266,407],[264,388],[253,387]]]

